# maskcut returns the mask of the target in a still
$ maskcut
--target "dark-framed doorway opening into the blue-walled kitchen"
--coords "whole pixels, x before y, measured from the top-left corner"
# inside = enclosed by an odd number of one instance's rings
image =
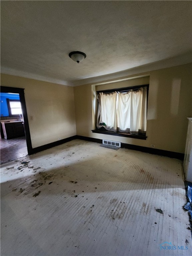
[[[16,160],[20,157],[27,155],[27,154],[30,155],[32,152],[31,136],[30,136],[30,131],[29,131],[29,123],[28,123],[27,109],[26,109],[26,104],[25,104],[24,89],[1,86],[1,94],[3,94],[3,93],[15,94],[14,95],[15,97],[16,97],[16,95],[18,96],[18,99],[21,103],[22,115],[14,116],[14,115],[10,115],[10,113],[9,113],[9,115],[7,117],[8,119],[10,118],[9,120],[16,118],[16,119],[14,119],[14,125],[16,124],[16,128],[20,132],[20,135],[19,135],[19,137],[16,136],[17,138],[10,137],[11,139],[8,139],[8,140],[1,139],[1,156],[2,156],[1,163]],[[11,114],[14,114],[14,113],[11,113]],[[3,119],[7,119],[7,118],[3,118]],[[21,126],[22,126],[21,124],[22,123],[24,126],[23,134],[21,133]],[[13,123],[12,122],[9,123],[10,130],[12,129],[11,124],[13,125]],[[16,128],[14,128],[14,130]],[[15,136],[13,136],[13,137],[15,137]]]

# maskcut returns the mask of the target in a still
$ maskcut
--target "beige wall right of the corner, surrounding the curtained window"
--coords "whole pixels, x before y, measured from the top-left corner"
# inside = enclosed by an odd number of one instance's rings
[[[120,88],[146,84],[149,79],[147,140],[92,133],[95,123],[96,86],[88,84],[74,87],[77,135],[144,147],[153,144],[157,149],[184,153],[187,117],[192,116],[191,71],[192,65],[185,64],[148,72],[149,77],[97,86],[98,90]]]

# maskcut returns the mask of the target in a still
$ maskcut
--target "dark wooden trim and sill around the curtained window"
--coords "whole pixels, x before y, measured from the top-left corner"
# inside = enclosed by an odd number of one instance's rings
[[[103,93],[113,93],[113,92],[128,92],[130,90],[137,91],[141,87],[147,87],[147,108],[148,108],[148,94],[149,94],[149,84],[142,84],[142,85],[136,85],[136,86],[130,86],[130,87],[123,87],[123,88],[115,88],[115,89],[108,89],[108,90],[102,90],[102,91],[96,91],[97,95],[100,92]],[[97,111],[98,111],[98,99],[97,99]],[[104,128],[104,127],[103,127]],[[108,131],[105,128],[102,129],[95,129],[92,130],[93,133],[101,133],[101,134],[108,134],[108,135],[114,135],[114,136],[121,136],[121,137],[129,137],[129,138],[134,138],[134,139],[141,139],[141,140],[146,140],[147,136],[146,134],[130,134],[130,133],[123,133],[123,132],[113,132],[113,131]]]

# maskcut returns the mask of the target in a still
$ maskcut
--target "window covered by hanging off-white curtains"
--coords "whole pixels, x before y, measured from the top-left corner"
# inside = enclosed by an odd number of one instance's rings
[[[149,85],[98,91],[97,129],[145,135]]]

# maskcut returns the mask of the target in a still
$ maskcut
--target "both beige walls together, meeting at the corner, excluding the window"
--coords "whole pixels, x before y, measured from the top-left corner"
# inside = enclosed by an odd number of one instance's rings
[[[77,130],[77,135],[81,136],[144,147],[153,144],[157,149],[184,153],[187,117],[192,116],[191,71],[192,65],[185,64],[151,71],[146,73],[150,73],[146,77],[74,88],[1,74],[1,85],[25,88],[33,148],[76,135]],[[147,140],[92,133],[91,130],[95,128],[95,87],[102,90],[148,83]],[[33,120],[30,116],[33,116]]]

